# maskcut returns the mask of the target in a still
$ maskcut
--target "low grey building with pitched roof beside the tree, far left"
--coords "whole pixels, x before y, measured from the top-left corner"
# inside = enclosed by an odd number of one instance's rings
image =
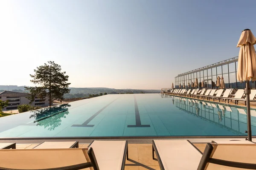
[[[3,111],[17,109],[18,105],[29,104],[30,100],[27,99],[29,94],[20,93],[14,91],[3,91],[0,93],[0,100],[6,101],[8,100],[8,106],[3,108]],[[35,101],[31,103],[33,106],[48,106],[49,105],[49,97],[45,97],[44,99],[38,99],[35,97]]]

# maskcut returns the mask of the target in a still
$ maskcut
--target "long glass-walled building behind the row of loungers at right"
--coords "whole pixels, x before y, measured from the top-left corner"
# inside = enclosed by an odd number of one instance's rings
[[[205,88],[215,88],[213,86],[216,85],[217,77],[223,76],[226,88],[244,89],[245,82],[240,83],[236,79],[237,65],[238,57],[233,57],[179,74],[175,77],[175,88],[179,88],[179,85],[183,88],[183,84],[185,84],[186,89],[191,88],[192,82],[195,82],[196,78],[198,82],[204,82]],[[190,84],[190,87],[188,87],[188,84]],[[250,82],[250,87],[255,88],[255,84],[255,82]]]

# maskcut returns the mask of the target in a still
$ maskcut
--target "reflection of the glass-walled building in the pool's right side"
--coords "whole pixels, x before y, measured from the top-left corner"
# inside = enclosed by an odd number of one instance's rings
[[[244,133],[244,127],[245,129],[247,127],[246,115],[239,114],[237,109],[236,111],[227,111],[222,105],[212,103],[204,103],[204,105],[198,100],[194,101],[185,98],[176,98],[175,106],[186,113],[232,131],[237,135],[246,135]],[[253,127],[256,128],[256,126],[252,125]]]

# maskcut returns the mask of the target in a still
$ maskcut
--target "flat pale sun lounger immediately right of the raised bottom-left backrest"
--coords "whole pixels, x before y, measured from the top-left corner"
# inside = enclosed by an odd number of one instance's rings
[[[128,160],[128,141],[93,141],[92,147],[100,170],[124,170]]]

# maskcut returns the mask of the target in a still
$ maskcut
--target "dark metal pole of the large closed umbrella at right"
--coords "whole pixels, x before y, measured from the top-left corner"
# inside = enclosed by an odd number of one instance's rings
[[[248,80],[245,83],[244,94],[246,95],[246,105],[247,105],[247,133],[248,133],[248,141],[252,141],[252,130],[251,130],[251,120],[250,120],[250,82]]]

